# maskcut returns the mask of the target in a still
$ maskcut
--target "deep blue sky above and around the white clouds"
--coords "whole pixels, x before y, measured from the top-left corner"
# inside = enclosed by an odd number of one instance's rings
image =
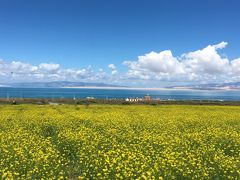
[[[31,76],[29,81],[40,80],[40,76],[59,80],[59,73],[56,73],[59,69],[61,73],[64,70],[85,70],[89,76],[99,73],[100,69],[104,76],[102,79],[85,78],[84,73],[69,79],[120,84],[132,82],[136,86],[197,83],[199,79],[159,77],[159,73],[169,75],[173,72],[161,68],[153,70],[140,62],[138,56],[171,50],[171,56],[180,62],[182,58],[178,57],[183,54],[227,42],[226,48],[217,48],[216,51],[221,60],[227,57],[229,67],[233,68],[231,61],[240,57],[239,8],[238,0],[0,0],[0,59],[5,70],[8,67],[9,72],[15,73],[14,77],[4,76],[6,72],[2,70],[0,79],[21,81],[34,72],[37,76]],[[195,56],[191,58],[196,59]],[[126,65],[124,61],[135,62],[135,67],[130,67],[129,63]],[[152,62],[151,58],[146,61]],[[18,62],[17,67],[13,62]],[[164,63],[160,57],[156,65],[164,66]],[[56,69],[48,72],[51,78],[42,72],[36,73],[34,68],[23,75],[26,64],[36,66],[35,69],[41,69],[41,64],[44,67],[49,64],[48,70],[54,65]],[[202,76],[198,71],[190,71]],[[200,81],[210,82],[216,78],[212,77],[217,76],[213,71],[211,77],[209,71],[203,71],[209,79]],[[220,71],[225,72],[223,69]],[[233,74],[237,70],[235,67],[229,71]],[[147,77],[139,73],[147,74]],[[121,78],[111,74],[118,74]],[[238,81],[237,78],[235,72],[234,76],[224,77],[224,82]]]

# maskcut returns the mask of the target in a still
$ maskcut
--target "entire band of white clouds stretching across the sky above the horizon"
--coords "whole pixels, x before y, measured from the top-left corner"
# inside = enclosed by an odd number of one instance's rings
[[[62,68],[60,64],[33,65],[22,61],[0,60],[0,82],[9,81],[93,81],[126,85],[131,83],[212,83],[240,81],[240,58],[229,59],[219,50],[227,42],[174,56],[171,50],[150,52],[137,60],[124,61],[127,72],[118,72],[114,64],[103,69]],[[153,83],[154,82],[154,83]]]

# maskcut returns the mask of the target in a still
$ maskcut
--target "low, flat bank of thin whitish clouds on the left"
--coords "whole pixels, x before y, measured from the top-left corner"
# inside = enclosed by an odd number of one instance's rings
[[[82,69],[61,68],[59,64],[32,65],[21,61],[0,60],[0,80],[9,81],[98,81],[107,76],[103,70],[94,71],[91,66]]]

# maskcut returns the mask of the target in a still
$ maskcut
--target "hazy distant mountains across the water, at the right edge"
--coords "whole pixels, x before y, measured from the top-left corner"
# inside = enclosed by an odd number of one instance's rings
[[[173,89],[194,89],[194,90],[240,90],[240,82],[230,82],[223,84],[199,84],[188,86],[169,87]]]

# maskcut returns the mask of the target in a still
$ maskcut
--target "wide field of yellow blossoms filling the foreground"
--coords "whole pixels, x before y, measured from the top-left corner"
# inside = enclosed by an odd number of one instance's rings
[[[240,179],[240,107],[0,106],[0,179]]]

